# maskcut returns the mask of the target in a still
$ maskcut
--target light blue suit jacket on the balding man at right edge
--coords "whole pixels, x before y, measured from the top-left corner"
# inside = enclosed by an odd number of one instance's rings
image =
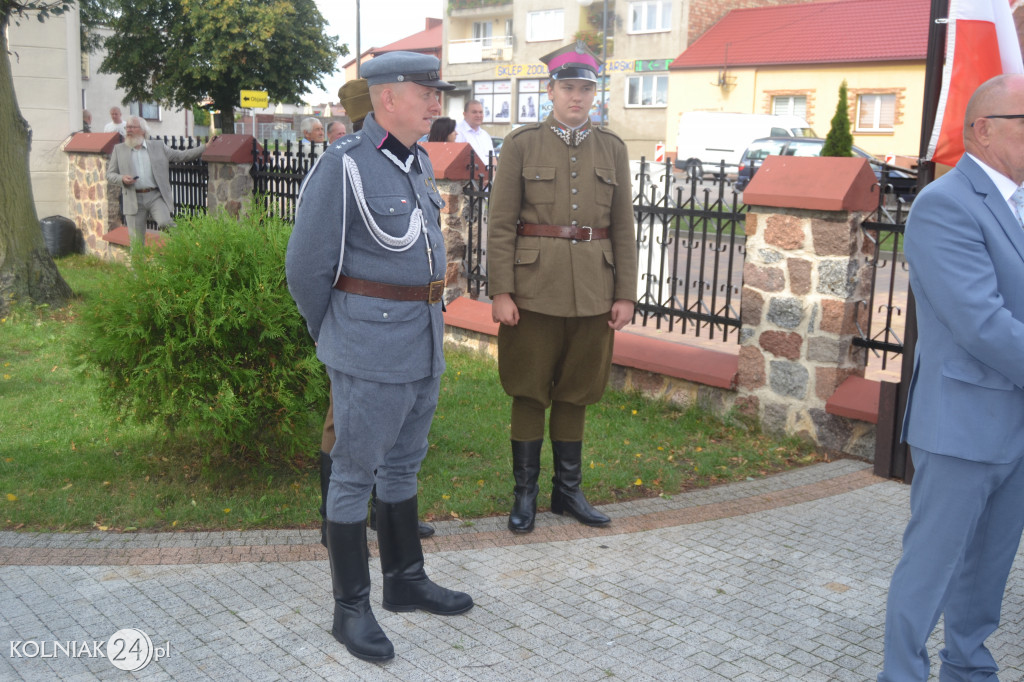
[[[914,200],[904,251],[919,329],[904,440],[976,462],[1024,457],[1024,228],[965,155]]]

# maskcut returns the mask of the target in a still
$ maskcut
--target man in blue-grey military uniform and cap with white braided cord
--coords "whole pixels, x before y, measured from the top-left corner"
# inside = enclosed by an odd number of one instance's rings
[[[384,608],[440,615],[473,606],[423,570],[417,473],[444,371],[443,205],[416,140],[440,114],[436,57],[389,52],[362,67],[374,113],[328,147],[299,194],[288,287],[327,366],[337,440],[331,449],[327,548],[332,633],[352,655],[394,647],[370,607],[367,502],[377,484]]]

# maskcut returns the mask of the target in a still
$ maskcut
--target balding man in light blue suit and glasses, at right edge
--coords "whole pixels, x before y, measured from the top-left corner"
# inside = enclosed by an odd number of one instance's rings
[[[903,438],[915,473],[886,611],[880,682],[995,681],[999,624],[1024,528],[1024,76],[982,84],[967,154],[913,203],[904,251],[919,341]]]

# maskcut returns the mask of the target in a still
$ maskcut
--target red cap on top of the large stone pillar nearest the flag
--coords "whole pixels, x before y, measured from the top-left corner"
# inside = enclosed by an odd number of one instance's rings
[[[817,211],[871,211],[877,179],[860,157],[768,157],[743,190],[743,203]]]

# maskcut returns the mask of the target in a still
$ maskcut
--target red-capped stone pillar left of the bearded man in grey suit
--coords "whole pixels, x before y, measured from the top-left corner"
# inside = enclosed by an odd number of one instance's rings
[[[111,256],[103,235],[120,222],[120,193],[106,182],[106,165],[120,133],[76,133],[65,146],[68,155],[69,212],[85,242],[85,252]]]

